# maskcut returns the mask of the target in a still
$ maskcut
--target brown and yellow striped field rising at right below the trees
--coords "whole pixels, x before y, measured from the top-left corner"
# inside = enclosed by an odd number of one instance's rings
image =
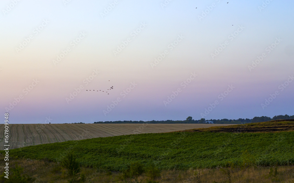
[[[184,130],[184,132],[285,132],[294,131],[294,120],[275,120],[258,123],[247,123],[244,125],[215,126],[209,128],[198,128]]]

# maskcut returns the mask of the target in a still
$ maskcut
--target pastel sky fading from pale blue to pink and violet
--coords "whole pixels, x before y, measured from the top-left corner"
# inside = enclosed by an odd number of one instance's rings
[[[3,0],[0,115],[12,124],[294,115],[293,6]]]

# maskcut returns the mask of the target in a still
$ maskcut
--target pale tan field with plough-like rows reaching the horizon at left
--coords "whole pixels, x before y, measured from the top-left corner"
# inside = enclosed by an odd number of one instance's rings
[[[30,145],[111,137],[139,133],[163,133],[232,124],[10,124],[9,149]],[[4,134],[4,124],[0,125]],[[0,140],[3,147],[4,139]]]

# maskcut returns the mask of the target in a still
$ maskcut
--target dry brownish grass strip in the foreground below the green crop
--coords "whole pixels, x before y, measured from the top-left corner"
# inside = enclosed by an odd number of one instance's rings
[[[3,156],[0,157],[1,164],[4,164]],[[9,162],[10,169],[15,167],[15,164],[24,167],[24,173],[36,178],[35,183],[65,183],[69,179],[66,175],[66,170],[61,168],[59,164],[47,162],[46,160],[13,160]],[[273,167],[275,169],[275,167]],[[3,172],[3,166],[0,167]],[[232,182],[294,182],[294,167],[293,166],[277,166],[278,174],[274,177],[269,177],[270,167],[250,167],[247,169],[232,169],[232,168],[215,168],[215,169],[190,169],[186,171],[168,170],[162,171],[161,177],[155,179],[156,182],[162,183],[192,183],[192,182],[209,182],[209,183],[225,183],[229,182],[228,171],[231,174]],[[150,178],[145,174],[137,177],[137,179],[123,179],[122,173],[119,172],[101,172],[94,168],[81,168],[81,172],[86,175],[86,182],[147,182]],[[200,176],[197,174],[200,172]]]

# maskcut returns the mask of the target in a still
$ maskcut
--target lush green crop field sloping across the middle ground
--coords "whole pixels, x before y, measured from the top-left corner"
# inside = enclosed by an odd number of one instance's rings
[[[276,128],[283,125],[278,122],[268,122],[268,125],[270,123],[276,124]],[[250,124],[250,127],[260,124]],[[293,131],[148,133],[22,147],[10,150],[9,155],[61,161],[67,151],[73,150],[82,166],[113,171],[121,171],[132,162],[155,164],[166,170],[242,163],[293,165],[293,137]]]

